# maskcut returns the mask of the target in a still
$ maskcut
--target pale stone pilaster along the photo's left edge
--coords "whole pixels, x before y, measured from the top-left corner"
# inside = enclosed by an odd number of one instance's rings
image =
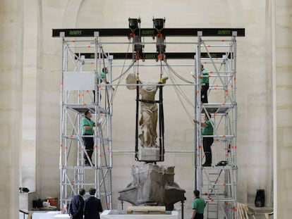
[[[0,214],[18,218],[22,111],[23,1],[0,2]]]

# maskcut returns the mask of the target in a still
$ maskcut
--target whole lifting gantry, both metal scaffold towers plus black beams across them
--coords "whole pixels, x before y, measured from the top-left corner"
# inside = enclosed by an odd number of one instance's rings
[[[195,125],[195,188],[207,202],[206,218],[237,218],[236,187],[236,37],[244,37],[245,30],[229,28],[139,28],[140,37],[197,37],[195,52],[165,52],[166,58],[194,59],[195,63],[195,120],[209,113],[214,122],[214,144],[217,158],[211,167],[202,166],[201,124]],[[95,83],[102,68],[109,69],[116,59],[135,59],[132,53],[104,54],[99,37],[133,37],[136,33],[126,29],[56,29],[53,37],[63,38],[61,82],[61,148],[60,148],[60,206],[66,212],[71,197],[81,187],[95,187],[97,196],[111,209],[112,139],[111,116],[113,89],[111,83]],[[160,36],[160,37],[161,37]],[[74,40],[72,40],[74,37]],[[85,38],[86,37],[86,38]],[[221,37],[223,39],[218,39]],[[230,37],[226,39],[226,37]],[[71,38],[71,40],[69,39]],[[78,40],[75,38],[78,38]],[[136,37],[137,38],[137,37]],[[162,38],[163,40],[165,38]],[[157,52],[141,52],[140,40],[133,41],[133,51],[142,60],[159,59],[162,39],[157,39]],[[165,49],[165,47],[163,47]],[[209,75],[209,103],[201,104],[201,70],[204,64]],[[206,77],[206,76],[205,76]],[[95,90],[95,99],[92,90]],[[213,101],[212,100],[216,100]],[[218,101],[219,100],[219,101]],[[85,166],[80,120],[90,109],[97,125],[93,163]],[[192,152],[193,153],[193,152]],[[220,157],[220,158],[219,158]],[[215,163],[214,163],[215,160]],[[219,162],[217,161],[224,161]],[[95,165],[94,165],[95,163]],[[218,164],[218,165],[214,165]],[[103,204],[103,205],[104,205]]]

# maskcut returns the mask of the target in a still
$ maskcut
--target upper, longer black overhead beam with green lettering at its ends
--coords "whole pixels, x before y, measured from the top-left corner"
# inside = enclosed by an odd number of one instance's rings
[[[202,31],[204,37],[231,37],[232,32],[237,32],[237,37],[245,37],[244,28],[164,28],[165,37],[196,37],[197,32]],[[128,28],[103,28],[103,29],[53,29],[52,37],[60,37],[64,32],[64,37],[95,37],[95,32],[99,32],[99,37],[128,37]],[[154,28],[141,28],[141,37],[153,37],[157,35]]]

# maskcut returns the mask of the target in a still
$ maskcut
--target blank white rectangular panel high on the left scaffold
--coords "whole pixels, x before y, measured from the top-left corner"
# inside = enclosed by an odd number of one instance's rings
[[[64,90],[94,90],[95,73],[94,72],[64,72],[63,73]]]

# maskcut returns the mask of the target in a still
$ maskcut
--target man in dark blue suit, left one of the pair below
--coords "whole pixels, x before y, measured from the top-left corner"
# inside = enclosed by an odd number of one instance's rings
[[[71,219],[83,219],[85,189],[79,189],[79,194],[73,196],[69,206],[69,215]]]

